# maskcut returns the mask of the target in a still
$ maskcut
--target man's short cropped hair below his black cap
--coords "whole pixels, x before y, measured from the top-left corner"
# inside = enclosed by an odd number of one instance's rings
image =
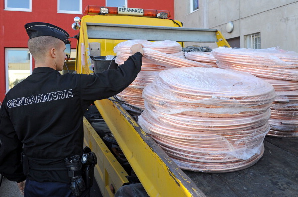
[[[52,48],[58,48],[61,41],[52,36],[39,36],[28,40],[28,49],[36,61],[43,61]]]

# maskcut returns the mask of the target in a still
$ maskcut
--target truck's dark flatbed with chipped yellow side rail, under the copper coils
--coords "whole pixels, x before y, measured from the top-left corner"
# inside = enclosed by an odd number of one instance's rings
[[[95,104],[150,196],[298,196],[298,139],[266,136],[264,155],[244,170],[181,170],[121,105],[106,99]]]

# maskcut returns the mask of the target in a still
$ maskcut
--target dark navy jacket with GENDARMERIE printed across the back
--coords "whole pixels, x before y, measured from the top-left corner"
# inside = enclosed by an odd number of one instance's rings
[[[26,179],[20,161],[23,144],[26,156],[41,166],[82,155],[85,110],[95,100],[123,91],[137,77],[141,59],[135,53],[116,70],[96,75],[35,68],[7,93],[0,109],[0,174],[11,181]],[[69,182],[66,170],[30,170],[28,178]]]

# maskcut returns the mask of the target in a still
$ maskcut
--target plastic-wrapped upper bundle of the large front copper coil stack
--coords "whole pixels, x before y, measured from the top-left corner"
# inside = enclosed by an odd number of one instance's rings
[[[237,114],[268,109],[276,94],[271,84],[248,73],[218,68],[180,68],[161,72],[155,85],[151,84],[143,92],[143,97],[148,104],[158,104],[157,110],[168,114],[205,113],[206,110]]]

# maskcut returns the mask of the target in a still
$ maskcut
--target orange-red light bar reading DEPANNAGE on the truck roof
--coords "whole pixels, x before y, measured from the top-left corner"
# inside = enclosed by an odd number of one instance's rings
[[[141,9],[141,8],[124,8],[124,7],[109,7],[109,6],[87,6],[85,8],[86,15],[128,15],[142,17],[156,17],[167,19],[171,17],[170,11]]]

